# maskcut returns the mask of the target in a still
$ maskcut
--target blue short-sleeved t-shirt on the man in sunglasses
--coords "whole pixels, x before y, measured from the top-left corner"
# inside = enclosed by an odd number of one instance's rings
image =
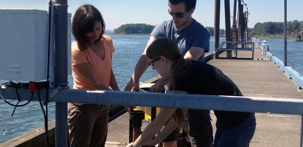
[[[183,57],[191,47],[204,48],[203,54],[197,60],[204,62],[205,52],[209,52],[210,33],[207,28],[195,19],[192,20],[189,26],[182,30],[176,28],[172,19],[165,21],[157,25],[151,32],[151,35],[155,38],[160,36],[171,38],[171,40],[178,44]]]

